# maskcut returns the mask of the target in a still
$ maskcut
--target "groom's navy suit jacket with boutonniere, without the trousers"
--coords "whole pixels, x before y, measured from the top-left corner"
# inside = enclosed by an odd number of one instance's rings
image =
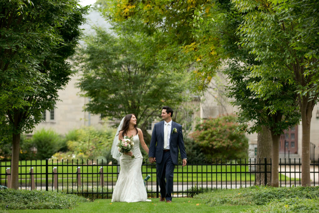
[[[177,133],[173,133],[174,128],[176,128]],[[181,152],[182,159],[187,158],[183,141],[182,125],[172,121],[170,134],[169,151],[171,153],[172,161],[176,165],[178,161],[178,149]],[[160,121],[154,125],[148,156],[155,157],[156,163],[161,163],[163,158],[163,150],[164,121]]]

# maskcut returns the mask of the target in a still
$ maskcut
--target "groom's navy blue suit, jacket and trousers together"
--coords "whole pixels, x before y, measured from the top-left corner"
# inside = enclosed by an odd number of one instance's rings
[[[176,128],[177,133],[173,133],[174,128]],[[164,121],[154,125],[148,156],[155,157],[156,160],[156,175],[161,197],[171,201],[174,167],[178,161],[178,149],[181,152],[182,159],[186,158],[186,152],[182,125],[172,121],[171,132],[168,134],[170,134],[169,151],[164,152]]]

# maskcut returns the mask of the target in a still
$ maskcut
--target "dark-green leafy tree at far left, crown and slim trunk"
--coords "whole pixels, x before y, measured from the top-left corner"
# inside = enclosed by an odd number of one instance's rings
[[[66,61],[78,44],[87,7],[77,0],[1,1],[0,133],[12,134],[11,188],[17,189],[19,142],[44,110],[53,109],[73,73]]]

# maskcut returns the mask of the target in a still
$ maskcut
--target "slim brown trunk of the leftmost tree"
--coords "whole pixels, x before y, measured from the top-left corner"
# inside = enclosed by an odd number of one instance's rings
[[[12,134],[11,183],[10,188],[19,188],[20,133]]]

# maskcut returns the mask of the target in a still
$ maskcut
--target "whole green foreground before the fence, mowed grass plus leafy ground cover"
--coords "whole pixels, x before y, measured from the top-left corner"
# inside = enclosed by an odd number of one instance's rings
[[[0,191],[5,196],[0,205],[2,212],[319,212],[319,186],[308,187],[264,187],[253,186],[240,189],[214,189],[197,194],[194,198],[173,197],[172,203],[159,202],[111,202],[111,199],[97,199],[94,202],[78,199],[77,196],[54,194],[54,192],[32,193],[31,191]],[[12,199],[19,197],[21,204]],[[8,198],[6,200],[6,198]],[[71,199],[74,204],[68,203]],[[5,205],[19,209],[34,207],[52,207],[61,201],[61,205],[75,206],[73,209],[52,210],[6,210]],[[78,203],[80,202],[80,203]],[[78,203],[78,206],[76,206]],[[31,204],[31,206],[29,205]],[[60,208],[60,205],[56,205]],[[62,206],[63,207],[63,206]]]

